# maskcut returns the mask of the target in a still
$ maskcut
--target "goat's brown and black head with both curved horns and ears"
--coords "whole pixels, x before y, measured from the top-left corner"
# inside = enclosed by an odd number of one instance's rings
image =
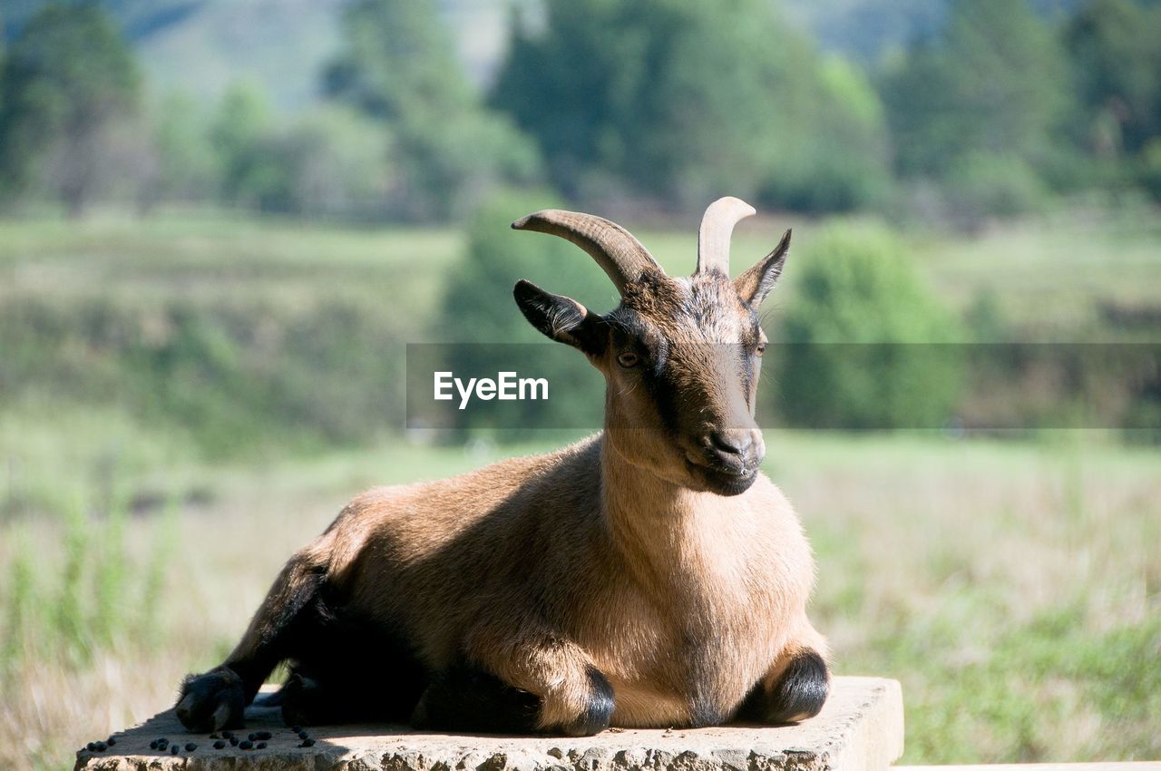
[[[753,212],[734,197],[706,210],[690,278],[665,275],[636,238],[600,217],[549,209],[512,223],[572,242],[621,294],[620,305],[601,316],[527,281],[514,291],[533,326],[579,348],[605,375],[612,449],[665,480],[719,495],[744,492],[765,456],[753,419],[766,346],[757,310],[781,273],[791,235],[730,281],[730,233]]]

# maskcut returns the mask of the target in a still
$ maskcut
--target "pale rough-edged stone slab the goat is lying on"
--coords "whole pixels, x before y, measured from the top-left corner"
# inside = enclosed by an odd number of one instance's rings
[[[173,711],[124,733],[103,752],[81,750],[75,769],[166,771],[884,771],[903,752],[903,698],[896,680],[839,677],[822,713],[796,726],[611,729],[597,736],[519,737],[416,733],[392,726],[308,728],[313,747],[282,726],[276,709],[251,708],[239,735],[268,730],[261,750],[212,748],[187,734]],[[180,742],[151,750],[159,736]],[[183,751],[187,742],[197,749]]]

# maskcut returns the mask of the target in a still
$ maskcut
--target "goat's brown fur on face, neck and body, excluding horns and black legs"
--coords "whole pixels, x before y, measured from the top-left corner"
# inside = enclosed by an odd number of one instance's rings
[[[607,337],[585,350],[579,326],[557,329],[560,315],[546,330],[605,374],[606,430],[548,455],[359,496],[291,557],[219,670],[241,675],[248,701],[271,666],[302,654],[295,619],[323,597],[325,613],[402,631],[425,672],[467,662],[534,694],[536,728],[591,733],[605,725],[583,727],[593,669],[615,694],[611,725],[705,725],[733,718],[755,689],[772,692],[801,651],[824,655],[806,617],[814,563],[789,503],[756,470],[719,495],[701,466],[716,457],[713,430],[755,439],[760,460],[757,367],[748,380],[737,353],[764,341],[751,274],[752,287],[646,273],[607,317],[558,298]],[[621,327],[643,336],[633,345],[664,346],[659,386],[618,363]],[[218,687],[211,676],[183,689],[187,726],[218,722],[199,718],[222,700],[201,696]]]

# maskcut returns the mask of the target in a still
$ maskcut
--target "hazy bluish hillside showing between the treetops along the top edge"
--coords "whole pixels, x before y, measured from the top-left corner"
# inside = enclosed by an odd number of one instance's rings
[[[5,37],[49,0],[6,0]],[[134,41],[154,92],[215,99],[236,80],[267,87],[293,111],[316,94],[336,50],[346,0],[99,0]],[[778,1],[778,0],[772,0]],[[872,63],[939,29],[952,0],[780,0],[787,17],[828,51]],[[1053,15],[1083,0],[1032,0]],[[504,55],[507,9],[536,0],[437,0],[473,80],[488,82]]]

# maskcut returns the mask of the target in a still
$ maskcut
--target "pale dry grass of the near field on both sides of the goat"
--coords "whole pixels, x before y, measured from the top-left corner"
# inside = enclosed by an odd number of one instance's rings
[[[838,670],[904,683],[907,761],[1161,754],[1148,714],[1158,696],[1134,693],[1116,675],[1152,684],[1155,672],[1148,680],[1133,668],[1155,666],[1161,654],[1155,452],[1083,433],[1036,444],[798,434],[770,446],[767,470],[819,553],[814,614]],[[62,768],[75,747],[168,706],[181,675],[221,658],[284,557],[348,495],[454,473],[493,452],[396,445],[199,470],[210,503],[129,521],[130,589],[111,642],[82,632],[78,650],[24,628],[30,647],[2,680],[0,768]],[[66,557],[67,532],[44,521],[20,531],[14,540],[5,527],[0,575],[10,575],[26,541],[41,596],[51,597],[45,565]],[[89,533],[100,541],[100,531]],[[159,549],[166,569],[149,640],[136,632],[135,607]],[[0,640],[12,632],[0,629]]]

